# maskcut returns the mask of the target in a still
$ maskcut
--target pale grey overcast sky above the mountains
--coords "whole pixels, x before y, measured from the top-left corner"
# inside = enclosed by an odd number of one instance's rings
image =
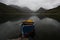
[[[5,4],[14,4],[18,6],[26,6],[33,11],[38,10],[40,7],[45,9],[52,9],[60,5],[60,0],[0,0]]]

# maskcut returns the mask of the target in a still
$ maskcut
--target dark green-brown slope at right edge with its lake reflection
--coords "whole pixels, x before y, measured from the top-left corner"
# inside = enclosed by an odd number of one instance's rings
[[[50,10],[46,10],[40,13],[38,16],[49,17],[49,18],[56,19],[57,21],[60,21],[60,6],[50,9]]]

